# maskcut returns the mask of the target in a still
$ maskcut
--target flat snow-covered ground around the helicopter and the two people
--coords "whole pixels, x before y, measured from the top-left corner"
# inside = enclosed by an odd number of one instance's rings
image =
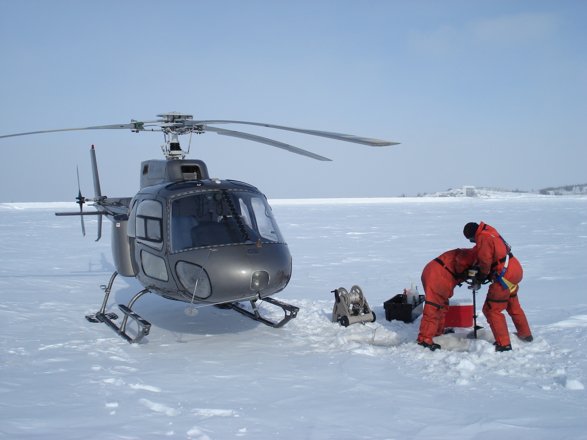
[[[95,243],[95,220],[82,238],[53,215],[75,204],[0,204],[0,438],[587,439],[587,198],[521,196],[271,201],[294,256],[278,298],[298,317],[271,329],[147,295],[138,346],[84,318],[114,270],[109,231]],[[470,245],[469,221],[521,261],[533,343],[496,354],[491,332],[460,329],[431,352],[419,320],[384,320],[407,276]],[[355,284],[377,322],[330,323],[330,291]],[[110,311],[140,289],[117,278]]]

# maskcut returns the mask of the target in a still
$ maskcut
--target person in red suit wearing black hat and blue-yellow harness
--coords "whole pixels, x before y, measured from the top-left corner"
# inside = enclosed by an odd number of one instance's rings
[[[519,306],[518,283],[522,280],[522,266],[511,253],[511,246],[499,232],[483,222],[467,223],[463,234],[473,243],[477,251],[480,282],[491,280],[487,299],[483,304],[483,314],[495,337],[495,351],[512,349],[510,333],[505,321],[504,310],[508,312],[516,328],[519,339],[525,342],[534,340],[528,326],[524,310]]]

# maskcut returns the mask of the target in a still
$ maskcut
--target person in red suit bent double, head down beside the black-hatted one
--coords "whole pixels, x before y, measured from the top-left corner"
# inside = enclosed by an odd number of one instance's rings
[[[453,249],[433,259],[422,272],[422,286],[426,294],[420,333],[417,343],[434,351],[441,348],[432,340],[444,334],[444,317],[448,312],[448,299],[454,288],[463,282],[462,272],[474,265],[477,253],[474,249]]]

